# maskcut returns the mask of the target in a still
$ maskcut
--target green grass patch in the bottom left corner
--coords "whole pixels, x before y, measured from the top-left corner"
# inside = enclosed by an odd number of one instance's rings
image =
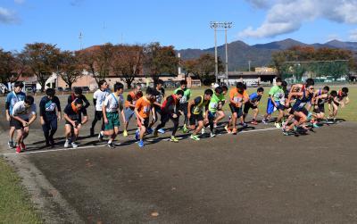
[[[21,187],[20,179],[0,158],[0,223],[43,223]]]

